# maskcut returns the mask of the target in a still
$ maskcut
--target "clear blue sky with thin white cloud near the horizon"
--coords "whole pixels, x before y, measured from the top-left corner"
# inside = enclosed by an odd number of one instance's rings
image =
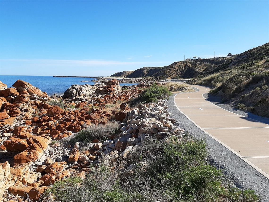
[[[268,41],[268,0],[0,0],[0,75],[109,76]]]

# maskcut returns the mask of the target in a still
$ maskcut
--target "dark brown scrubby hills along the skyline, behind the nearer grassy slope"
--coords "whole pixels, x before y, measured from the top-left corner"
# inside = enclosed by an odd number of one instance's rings
[[[244,53],[224,58],[208,58],[200,60],[185,60],[174,62],[164,67],[143,67],[127,75],[127,78],[151,77],[156,79],[193,78],[209,75],[225,69],[234,68],[241,64],[254,64],[269,57],[269,43],[245,51]],[[116,74],[123,74],[119,72]]]

